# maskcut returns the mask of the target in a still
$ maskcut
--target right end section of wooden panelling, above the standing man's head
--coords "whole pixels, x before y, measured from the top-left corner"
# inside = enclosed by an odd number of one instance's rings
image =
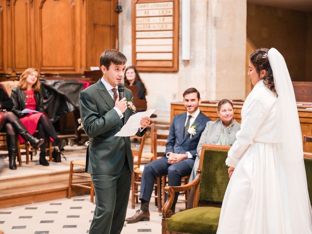
[[[87,11],[87,70],[103,51],[118,49],[118,0],[90,0]]]

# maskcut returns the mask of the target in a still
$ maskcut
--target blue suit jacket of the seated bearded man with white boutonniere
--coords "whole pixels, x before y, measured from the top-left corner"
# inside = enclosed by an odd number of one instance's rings
[[[195,119],[196,124],[196,134],[190,137],[188,133],[184,136],[184,124],[186,120],[186,112],[180,115],[177,115],[172,120],[169,130],[169,137],[166,144],[166,153],[172,152],[176,154],[185,154],[187,151],[193,155],[193,160],[196,157],[196,147],[201,136],[201,133],[206,127],[206,123],[211,119],[205,116],[203,113],[199,112],[198,116]],[[186,160],[189,163],[189,160]],[[193,161],[194,162],[194,161]],[[193,167],[193,164],[190,165]]]

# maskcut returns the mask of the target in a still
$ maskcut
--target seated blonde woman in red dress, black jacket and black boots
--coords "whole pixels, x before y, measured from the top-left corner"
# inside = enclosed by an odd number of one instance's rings
[[[43,166],[49,166],[45,159],[45,148],[49,137],[56,142],[60,150],[63,150],[65,144],[64,141],[59,140],[50,118],[44,113],[38,76],[39,73],[36,68],[27,68],[20,75],[18,87],[12,90],[12,112],[20,118],[30,134],[34,134],[38,129],[39,137],[44,139],[44,143],[40,146],[39,163]],[[39,111],[39,113],[24,114],[22,113],[24,109]]]

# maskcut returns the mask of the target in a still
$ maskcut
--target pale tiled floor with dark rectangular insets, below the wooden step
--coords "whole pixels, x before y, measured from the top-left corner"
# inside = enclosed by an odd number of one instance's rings
[[[0,230],[4,234],[85,234],[88,233],[94,208],[90,196],[83,195],[0,209]],[[135,212],[129,202],[126,216]],[[125,223],[121,233],[161,233],[161,214],[153,204],[150,205],[150,214],[150,221]]]

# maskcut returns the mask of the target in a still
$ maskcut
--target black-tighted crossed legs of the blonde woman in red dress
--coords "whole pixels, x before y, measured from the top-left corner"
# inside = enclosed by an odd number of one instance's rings
[[[38,132],[39,138],[44,139],[44,143],[40,146],[40,152],[45,152],[46,144],[49,140],[49,137],[52,137],[52,139],[58,144],[58,135],[55,131],[53,124],[46,115],[42,115],[39,119]]]

